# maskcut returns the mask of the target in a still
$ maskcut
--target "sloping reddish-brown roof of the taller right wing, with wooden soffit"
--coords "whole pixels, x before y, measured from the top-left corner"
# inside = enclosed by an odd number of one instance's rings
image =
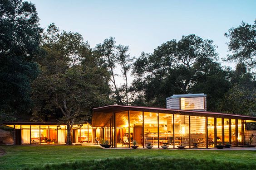
[[[105,121],[111,117],[112,113],[123,112],[123,111],[141,111],[141,112],[154,112],[154,113],[170,113],[170,114],[181,114],[190,116],[202,116],[212,118],[231,118],[231,119],[242,119],[256,121],[256,117],[244,116],[238,114],[227,114],[207,111],[194,111],[194,110],[179,110],[179,109],[165,109],[165,108],[153,108],[144,106],[121,106],[121,105],[108,105],[93,109],[92,126],[102,127]]]

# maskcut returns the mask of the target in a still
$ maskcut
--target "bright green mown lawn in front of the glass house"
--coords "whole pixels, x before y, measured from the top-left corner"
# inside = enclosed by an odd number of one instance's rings
[[[255,164],[256,151],[225,150],[103,150],[96,146],[0,146],[6,154],[0,156],[0,169],[13,170],[42,167],[46,164],[59,164],[83,160],[103,160],[107,158],[148,157],[148,158],[182,158],[204,159],[217,162],[236,162]]]

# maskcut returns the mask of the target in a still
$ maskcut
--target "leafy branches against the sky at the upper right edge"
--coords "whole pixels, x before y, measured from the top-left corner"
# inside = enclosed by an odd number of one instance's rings
[[[242,22],[237,28],[230,28],[225,33],[230,38],[227,61],[244,62],[248,68],[256,67],[256,20],[254,24]]]

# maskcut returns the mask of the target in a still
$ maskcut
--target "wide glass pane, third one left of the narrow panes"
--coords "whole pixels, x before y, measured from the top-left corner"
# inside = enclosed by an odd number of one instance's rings
[[[173,114],[159,113],[159,144],[173,148]]]

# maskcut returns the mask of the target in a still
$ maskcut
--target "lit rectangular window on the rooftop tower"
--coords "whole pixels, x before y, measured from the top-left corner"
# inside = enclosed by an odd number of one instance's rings
[[[191,97],[181,98],[181,109],[182,110],[202,110],[204,109],[204,98],[203,97]]]

